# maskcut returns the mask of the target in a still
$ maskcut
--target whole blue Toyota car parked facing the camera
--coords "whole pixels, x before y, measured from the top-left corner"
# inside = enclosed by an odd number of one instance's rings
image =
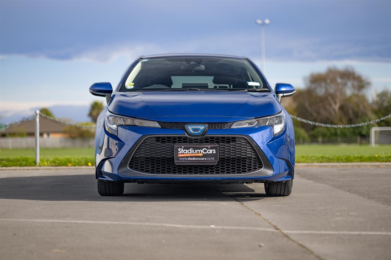
[[[142,56],[106,97],[95,135],[98,192],[124,183],[263,182],[269,196],[292,191],[295,142],[282,97],[246,57],[215,54]]]

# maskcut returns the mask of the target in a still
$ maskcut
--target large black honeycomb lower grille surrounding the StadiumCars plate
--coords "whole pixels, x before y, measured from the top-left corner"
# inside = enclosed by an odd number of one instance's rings
[[[174,145],[217,144],[217,165],[176,165]],[[245,174],[262,169],[262,160],[251,143],[240,136],[205,136],[194,139],[186,136],[151,136],[145,138],[129,161],[129,169],[150,174],[215,175]]]

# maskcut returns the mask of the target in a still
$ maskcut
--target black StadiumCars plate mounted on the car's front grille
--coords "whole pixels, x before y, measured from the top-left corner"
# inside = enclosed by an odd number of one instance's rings
[[[216,165],[219,161],[217,144],[175,144],[174,163],[179,165]]]

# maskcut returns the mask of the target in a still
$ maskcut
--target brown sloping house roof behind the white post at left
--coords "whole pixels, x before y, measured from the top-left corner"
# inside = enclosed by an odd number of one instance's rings
[[[40,117],[39,118],[39,133],[62,133],[64,132],[64,128],[67,125],[63,123],[58,123],[56,121],[52,121],[50,119]],[[4,131],[0,132],[0,134],[11,134],[11,133],[26,133],[26,134],[34,134],[35,132],[35,119],[31,119],[29,121],[23,121],[22,123],[12,125]]]

